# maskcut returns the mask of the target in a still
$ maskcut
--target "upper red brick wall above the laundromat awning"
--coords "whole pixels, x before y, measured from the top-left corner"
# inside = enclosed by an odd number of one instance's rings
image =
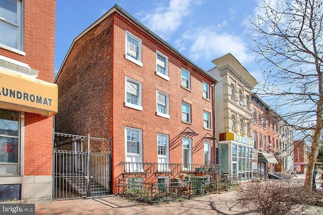
[[[38,79],[53,82],[55,51],[55,0],[24,1],[25,56],[0,48],[0,55],[27,63],[39,71]]]

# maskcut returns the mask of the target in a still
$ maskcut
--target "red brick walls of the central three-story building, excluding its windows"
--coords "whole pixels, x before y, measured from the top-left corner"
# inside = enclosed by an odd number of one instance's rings
[[[142,40],[142,66],[125,57],[126,31]],[[169,59],[169,81],[155,75],[156,50]],[[190,72],[190,90],[181,87],[182,67]],[[142,84],[142,111],[125,106],[126,77]],[[116,11],[82,33],[71,46],[56,80],[60,98],[56,131],[113,138],[114,193],[119,178],[134,177],[122,174],[126,127],[142,130],[143,163],[157,163],[157,133],[163,133],[169,135],[170,163],[180,164],[181,132],[189,127],[198,133],[192,137],[192,163],[204,164],[203,137],[213,134],[213,98],[202,98],[202,82],[210,86],[212,95],[214,80]],[[157,90],[169,95],[169,119],[156,115]],[[191,105],[191,123],[182,122],[182,101]],[[211,113],[210,129],[203,128],[203,110]],[[210,142],[214,161],[214,142]],[[135,177],[156,182],[154,174]]]

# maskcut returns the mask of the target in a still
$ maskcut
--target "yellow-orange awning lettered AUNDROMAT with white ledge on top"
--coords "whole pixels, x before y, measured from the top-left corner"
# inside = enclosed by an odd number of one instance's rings
[[[0,108],[51,116],[58,112],[58,87],[0,67]]]

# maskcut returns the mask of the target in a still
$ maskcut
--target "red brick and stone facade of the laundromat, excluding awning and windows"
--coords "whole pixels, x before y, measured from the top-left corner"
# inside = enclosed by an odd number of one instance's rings
[[[25,70],[37,70],[39,72],[36,75],[37,78],[30,75],[29,79],[53,83],[56,1],[22,1],[22,8],[23,26],[20,27],[23,27],[23,48],[19,53],[19,51],[1,46],[0,57],[11,64],[18,63],[17,68],[25,67]],[[2,67],[1,63],[0,67]],[[20,71],[18,69],[9,71],[13,75],[17,72],[19,74]],[[22,73],[25,74],[21,76],[21,79],[29,75],[26,75],[26,72]],[[44,82],[41,83],[44,84]],[[29,86],[23,87],[28,89]],[[30,113],[22,106],[20,106],[20,109],[16,104],[12,108],[10,104],[2,105],[0,105],[0,109],[17,111],[19,114],[23,113],[23,117],[19,119],[19,123],[21,123],[19,128],[19,153],[23,153],[19,154],[18,168],[20,170],[18,170],[18,176],[17,174],[3,178],[0,176],[0,185],[22,184],[21,199],[25,203],[29,199],[33,199],[33,202],[36,202],[37,199],[39,201],[50,201],[53,117]]]

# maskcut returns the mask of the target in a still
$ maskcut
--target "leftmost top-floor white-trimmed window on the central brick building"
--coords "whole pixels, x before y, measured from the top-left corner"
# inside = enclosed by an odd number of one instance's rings
[[[142,66],[142,40],[126,31],[126,59]]]

